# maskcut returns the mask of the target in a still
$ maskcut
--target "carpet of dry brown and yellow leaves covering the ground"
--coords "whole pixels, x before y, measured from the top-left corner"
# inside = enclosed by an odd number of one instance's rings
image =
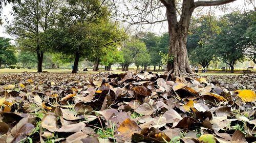
[[[0,142],[255,141],[255,92],[219,83],[147,72],[1,75]]]

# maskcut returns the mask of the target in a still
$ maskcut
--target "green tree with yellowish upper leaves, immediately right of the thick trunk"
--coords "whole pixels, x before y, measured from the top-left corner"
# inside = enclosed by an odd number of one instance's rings
[[[187,37],[187,50],[190,64],[195,66],[200,64],[203,68],[208,67],[214,58],[215,51],[211,43],[212,37],[221,32],[217,19],[214,16],[201,16],[194,20],[193,28],[189,30]]]

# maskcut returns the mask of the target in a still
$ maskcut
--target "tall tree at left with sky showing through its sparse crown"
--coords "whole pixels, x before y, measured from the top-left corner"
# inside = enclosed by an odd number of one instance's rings
[[[17,36],[19,44],[37,54],[37,72],[42,72],[44,52],[51,47],[45,44],[45,33],[55,23],[55,15],[60,1],[28,0],[15,5],[13,20],[7,26],[7,33]]]

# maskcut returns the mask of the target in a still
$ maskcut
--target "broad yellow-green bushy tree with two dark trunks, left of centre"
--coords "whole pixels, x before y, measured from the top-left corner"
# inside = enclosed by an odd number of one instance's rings
[[[81,58],[95,61],[97,70],[101,48],[118,43],[121,38],[117,22],[109,20],[110,11],[104,2],[95,0],[68,1],[61,8],[58,26],[52,30],[52,44],[56,51],[73,54],[75,57],[72,73],[77,72]]]

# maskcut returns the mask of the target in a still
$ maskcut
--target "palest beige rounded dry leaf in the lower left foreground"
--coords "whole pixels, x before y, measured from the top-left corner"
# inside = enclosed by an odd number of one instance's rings
[[[41,126],[51,132],[55,132],[58,129],[57,118],[54,115],[48,113],[44,116],[44,118],[42,118]]]

